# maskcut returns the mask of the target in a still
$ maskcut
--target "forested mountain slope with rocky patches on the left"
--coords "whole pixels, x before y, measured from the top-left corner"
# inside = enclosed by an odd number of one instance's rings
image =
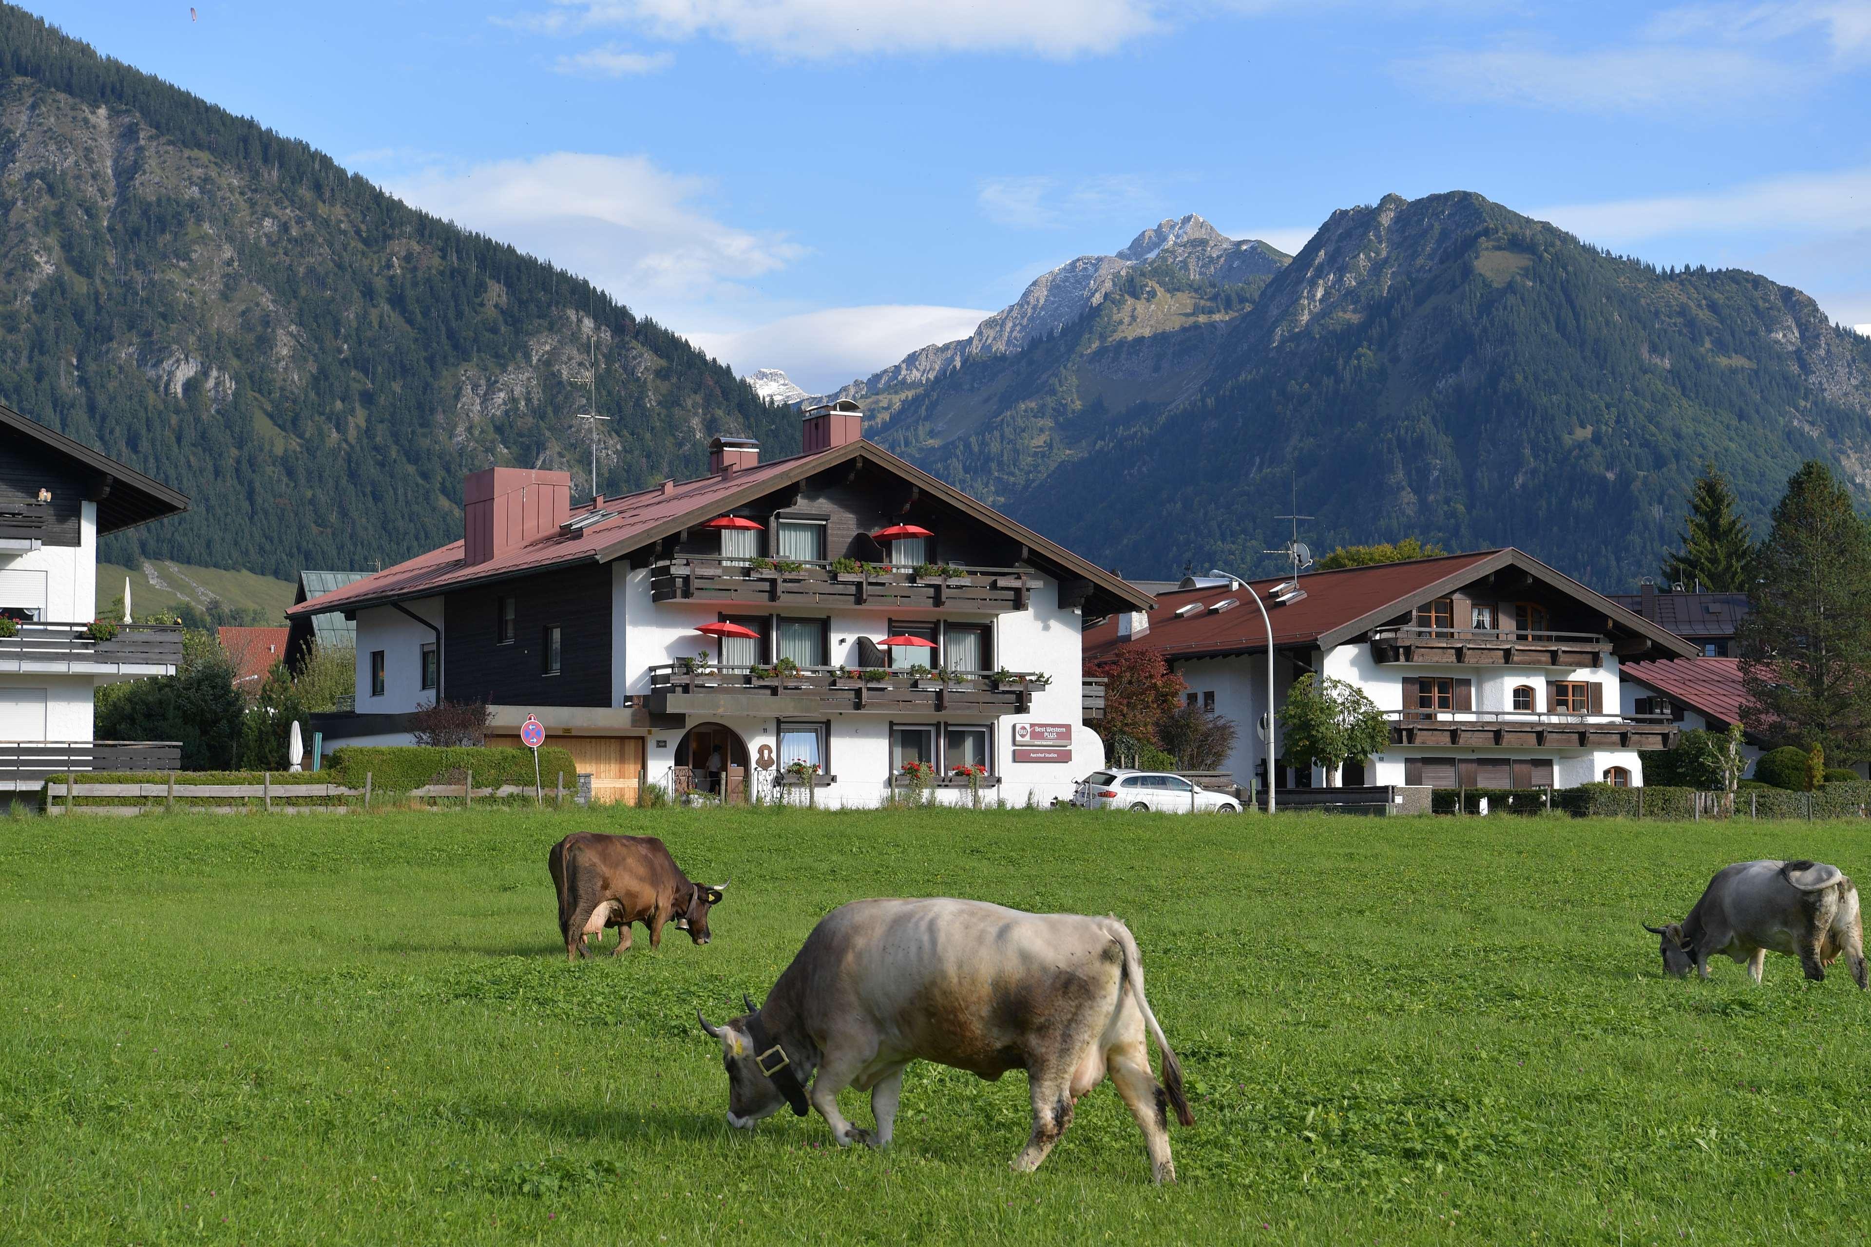
[[[107,538],[290,576],[460,535],[460,479],[589,488],[703,469],[797,419],[584,280],[413,211],[283,138],[0,4],[0,402],[185,490]]]

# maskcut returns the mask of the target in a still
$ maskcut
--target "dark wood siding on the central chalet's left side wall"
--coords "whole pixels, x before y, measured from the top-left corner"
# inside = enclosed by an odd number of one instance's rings
[[[496,643],[500,598],[513,643]],[[541,675],[541,638],[559,632],[559,673]],[[442,684],[449,701],[610,705],[610,565],[574,566],[447,595]]]

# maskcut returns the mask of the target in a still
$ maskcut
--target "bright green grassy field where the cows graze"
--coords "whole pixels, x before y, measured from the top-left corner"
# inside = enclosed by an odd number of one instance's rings
[[[653,832],[715,940],[567,965],[546,849]],[[0,1240],[1860,1240],[1871,1000],[1660,976],[1641,918],[1856,823],[627,811],[0,821]],[[896,1144],[722,1120],[694,1025],[834,905],[1117,912],[1196,1125],[1110,1084],[1038,1174],[1020,1073],[913,1066]],[[848,1096],[853,1120],[868,1103]]]

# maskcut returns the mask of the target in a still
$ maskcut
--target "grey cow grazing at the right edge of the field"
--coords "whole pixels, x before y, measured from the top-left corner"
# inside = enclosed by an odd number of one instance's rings
[[[1661,937],[1663,972],[1675,978],[1691,967],[1708,978],[1708,959],[1727,953],[1746,961],[1759,983],[1766,955],[1776,952],[1798,957],[1806,978],[1824,982],[1826,967],[1843,952],[1852,980],[1860,989],[1867,985],[1858,888],[1822,862],[1725,866],[1688,918],[1665,927],[1645,924],[1645,931]]]

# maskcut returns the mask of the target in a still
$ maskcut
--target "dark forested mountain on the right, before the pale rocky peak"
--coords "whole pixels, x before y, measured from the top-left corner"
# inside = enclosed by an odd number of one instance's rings
[[[1626,587],[1703,460],[1757,522],[1809,456],[1871,486],[1871,342],[1764,277],[1658,271],[1478,194],[1334,213],[1226,316],[1113,335],[1162,297],[870,396],[883,439],[1138,576],[1267,566],[1297,492],[1315,548],[1516,544]]]

